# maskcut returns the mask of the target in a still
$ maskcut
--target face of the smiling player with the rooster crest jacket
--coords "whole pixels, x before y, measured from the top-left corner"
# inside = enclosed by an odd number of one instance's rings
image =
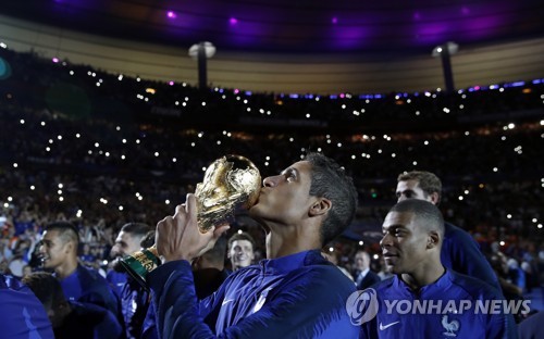
[[[385,267],[394,273],[412,273],[426,259],[428,235],[415,223],[411,212],[390,212],[380,241]]]

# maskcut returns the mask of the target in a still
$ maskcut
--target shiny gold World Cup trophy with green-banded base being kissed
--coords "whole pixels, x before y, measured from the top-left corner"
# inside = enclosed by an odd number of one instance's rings
[[[259,198],[261,175],[255,164],[242,155],[215,160],[197,184],[197,223],[203,234],[234,217],[237,209],[251,208]],[[154,246],[121,260],[125,271],[147,289],[146,276],[161,264]]]

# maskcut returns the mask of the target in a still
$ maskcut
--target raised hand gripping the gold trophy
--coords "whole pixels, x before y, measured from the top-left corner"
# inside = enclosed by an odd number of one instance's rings
[[[225,233],[227,224],[212,227],[200,233],[197,223],[197,201],[194,194],[187,194],[184,204],[177,205],[174,216],[166,216],[157,224],[157,252],[166,263],[174,260],[187,260],[200,256],[213,248],[219,237]]]

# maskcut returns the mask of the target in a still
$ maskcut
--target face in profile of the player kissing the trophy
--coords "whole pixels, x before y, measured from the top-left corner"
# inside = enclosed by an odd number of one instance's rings
[[[263,188],[250,215],[265,222],[297,225],[308,216],[314,201],[310,197],[311,165],[299,161],[281,174],[264,178]]]

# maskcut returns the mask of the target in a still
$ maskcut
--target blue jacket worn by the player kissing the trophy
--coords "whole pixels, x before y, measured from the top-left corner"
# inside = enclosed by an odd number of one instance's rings
[[[357,338],[346,300],[355,285],[318,250],[236,271],[198,302],[187,261],[148,276],[161,338]]]

